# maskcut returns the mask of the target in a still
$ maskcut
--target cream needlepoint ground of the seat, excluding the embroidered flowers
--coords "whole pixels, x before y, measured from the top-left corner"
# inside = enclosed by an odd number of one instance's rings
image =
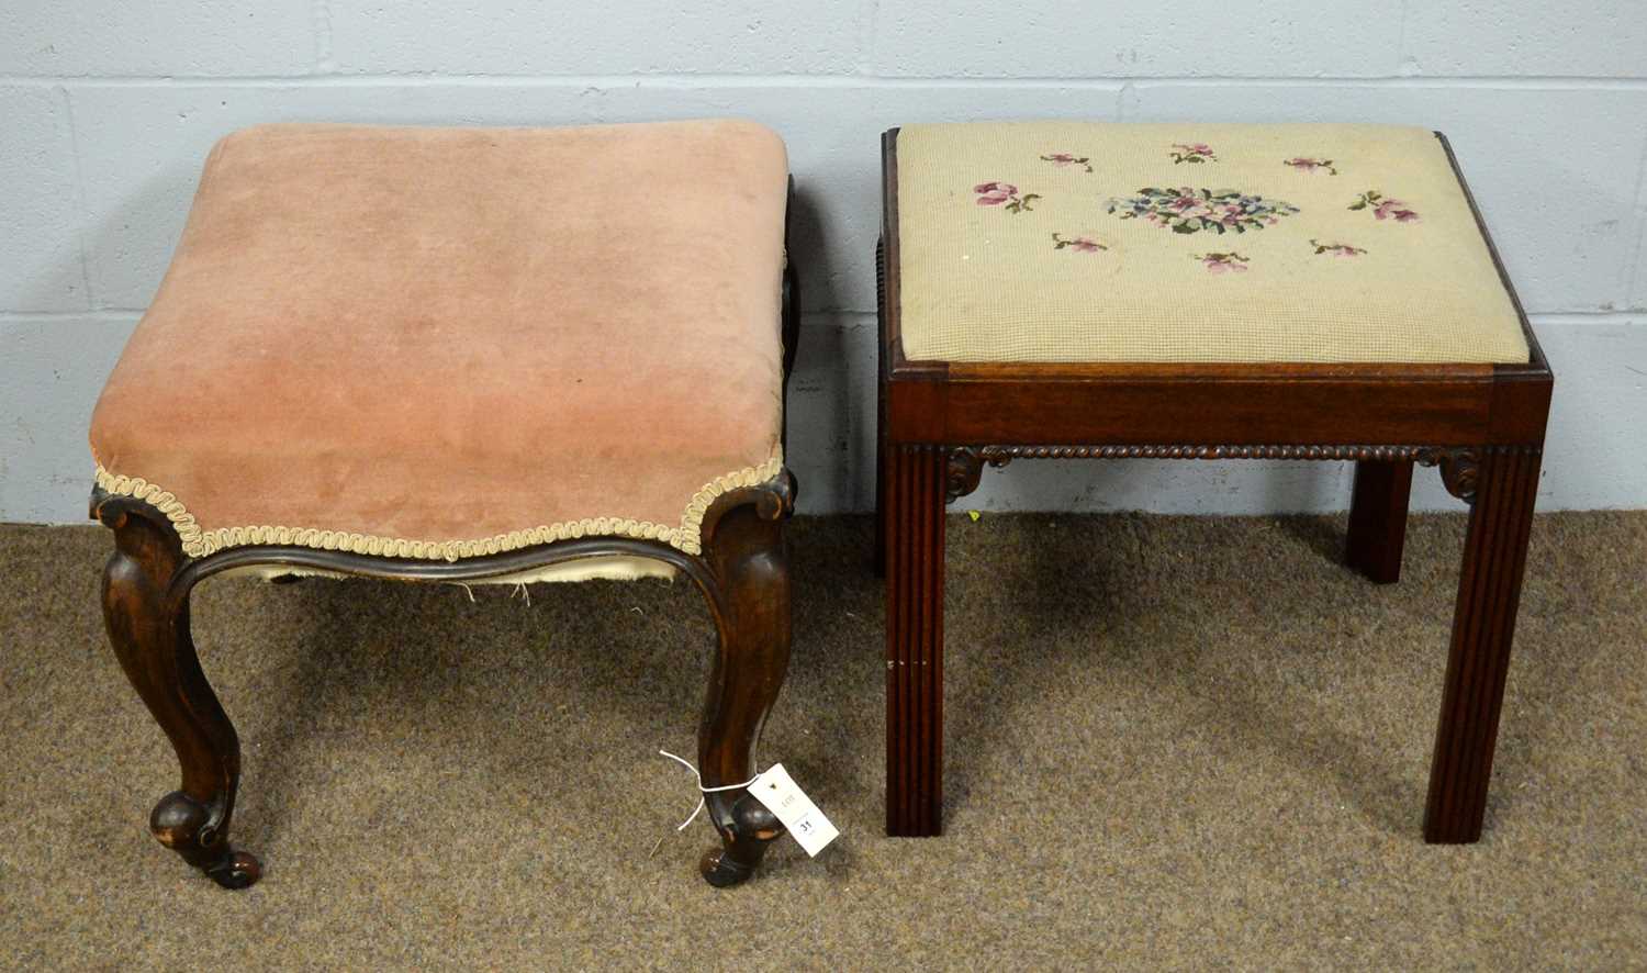
[[[1174,163],[1174,143],[1217,161]],[[1181,150],[1178,150],[1181,151]],[[1067,153],[1082,165],[1039,156]],[[1331,160],[1304,171],[1293,158]],[[1008,183],[1029,209],[980,206]],[[1105,212],[1141,188],[1299,212],[1173,232]],[[1377,191],[1416,222],[1349,209]],[[996,362],[1525,362],[1527,341],[1433,132],[1383,125],[907,125],[898,135],[904,356]],[[1107,250],[1054,249],[1052,234]],[[1311,240],[1365,250],[1316,254]],[[1243,272],[1196,255],[1235,252]]]

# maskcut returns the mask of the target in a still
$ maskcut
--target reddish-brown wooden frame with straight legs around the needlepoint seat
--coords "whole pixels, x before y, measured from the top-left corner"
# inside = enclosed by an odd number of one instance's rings
[[[1553,377],[1446,138],[1527,364],[965,364],[899,339],[898,130],[881,142],[879,477],[886,831],[942,830],[944,505],[1019,458],[1354,459],[1347,561],[1400,576],[1413,463],[1471,504],[1425,840],[1481,836]]]

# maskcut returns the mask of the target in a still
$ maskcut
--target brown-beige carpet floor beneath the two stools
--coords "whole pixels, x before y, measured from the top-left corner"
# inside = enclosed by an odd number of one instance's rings
[[[761,757],[842,838],[730,891],[656,756],[693,752],[688,586],[212,581],[244,892],[148,836],[176,764],[104,644],[107,535],[0,527],[0,966],[1644,966],[1647,512],[1538,519],[1487,831],[1431,848],[1463,527],[1416,517],[1377,588],[1342,519],[955,519],[947,835],[889,840],[870,524],[799,519]]]

